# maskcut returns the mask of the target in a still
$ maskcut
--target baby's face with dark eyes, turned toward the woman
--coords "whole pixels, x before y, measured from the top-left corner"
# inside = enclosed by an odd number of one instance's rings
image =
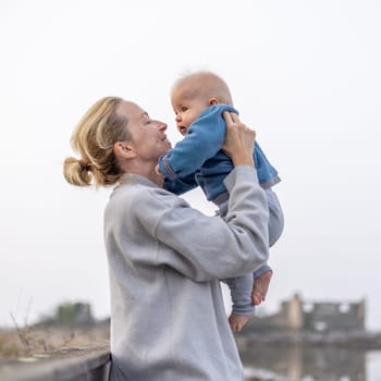
[[[186,97],[181,89],[172,91],[172,107],[175,113],[176,127],[182,135],[186,135],[189,125],[209,107],[202,97]]]

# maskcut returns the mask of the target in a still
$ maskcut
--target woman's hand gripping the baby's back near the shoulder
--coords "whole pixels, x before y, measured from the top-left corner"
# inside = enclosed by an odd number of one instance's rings
[[[222,150],[232,159],[234,165],[254,167],[253,151],[256,132],[239,121],[237,114],[225,111],[226,136]]]

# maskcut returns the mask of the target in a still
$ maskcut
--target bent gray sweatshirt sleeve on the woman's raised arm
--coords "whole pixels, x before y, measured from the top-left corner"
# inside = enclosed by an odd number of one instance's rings
[[[269,216],[256,171],[237,167],[226,176],[225,185],[231,194],[226,222],[164,193],[145,199],[145,210],[160,214],[153,224],[150,213],[139,214],[140,223],[159,243],[157,266],[167,265],[201,282],[241,275],[266,262]]]

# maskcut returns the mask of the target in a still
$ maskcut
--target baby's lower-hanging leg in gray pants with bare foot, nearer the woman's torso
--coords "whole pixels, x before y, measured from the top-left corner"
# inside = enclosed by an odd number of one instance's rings
[[[229,323],[232,331],[241,331],[255,311],[251,303],[253,274],[231,278],[226,280],[226,283],[233,302]]]

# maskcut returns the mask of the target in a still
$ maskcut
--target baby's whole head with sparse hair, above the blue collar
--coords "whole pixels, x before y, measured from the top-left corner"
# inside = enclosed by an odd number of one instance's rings
[[[182,135],[186,135],[189,125],[206,108],[218,103],[233,106],[226,83],[211,72],[196,72],[177,79],[172,87],[171,102]]]

